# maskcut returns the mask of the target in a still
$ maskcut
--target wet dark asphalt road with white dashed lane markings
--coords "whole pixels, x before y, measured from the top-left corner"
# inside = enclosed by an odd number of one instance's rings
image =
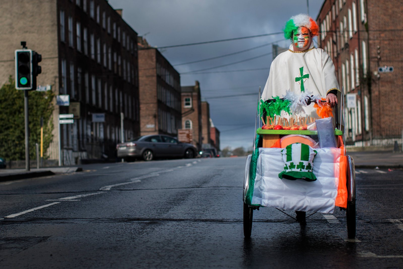
[[[245,240],[244,166],[244,157],[94,164],[0,182],[0,267],[403,267],[403,171],[358,170],[355,240],[345,211],[301,227],[272,208],[254,211]]]

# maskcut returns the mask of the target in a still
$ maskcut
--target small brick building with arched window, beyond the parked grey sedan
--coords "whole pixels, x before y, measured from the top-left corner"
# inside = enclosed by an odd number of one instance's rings
[[[194,86],[181,87],[182,126],[193,130],[193,145],[202,149],[202,97],[199,81]]]

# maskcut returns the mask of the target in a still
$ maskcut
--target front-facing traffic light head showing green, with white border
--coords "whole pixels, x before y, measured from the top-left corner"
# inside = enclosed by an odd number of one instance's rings
[[[32,50],[15,50],[15,89],[32,89]]]

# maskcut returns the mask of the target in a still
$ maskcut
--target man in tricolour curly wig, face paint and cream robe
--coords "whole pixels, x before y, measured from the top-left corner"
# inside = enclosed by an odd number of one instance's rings
[[[288,27],[290,24],[291,27]],[[287,30],[291,32],[288,35]],[[306,92],[326,97],[330,106],[338,103],[337,92],[340,88],[333,62],[324,50],[314,47],[314,35],[318,35],[318,26],[308,15],[299,14],[287,22],[285,36],[292,40],[292,44],[289,50],[273,60],[262,93],[263,101],[275,96],[284,97],[286,91],[290,90],[297,94]],[[297,116],[318,118],[313,104],[304,110],[305,114]]]

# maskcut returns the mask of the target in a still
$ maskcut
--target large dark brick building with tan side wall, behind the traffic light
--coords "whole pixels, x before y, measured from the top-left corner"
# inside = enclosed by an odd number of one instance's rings
[[[58,115],[71,107],[54,102],[51,159],[58,158],[59,126],[64,164],[112,158],[121,134],[123,139],[139,134],[137,33],[122,19],[122,10],[107,0],[14,0],[4,1],[0,12],[0,59],[12,59],[20,41],[27,41],[42,54],[37,84],[69,95],[75,107],[74,124],[59,125]],[[14,62],[0,63],[0,82],[10,74]],[[101,117],[95,122],[94,115]]]

